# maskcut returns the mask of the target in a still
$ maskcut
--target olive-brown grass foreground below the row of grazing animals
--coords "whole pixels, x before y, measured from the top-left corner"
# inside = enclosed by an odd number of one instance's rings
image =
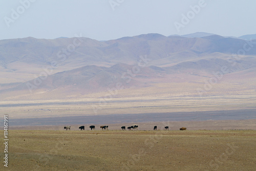
[[[255,170],[256,131],[11,130],[8,156],[1,170]]]

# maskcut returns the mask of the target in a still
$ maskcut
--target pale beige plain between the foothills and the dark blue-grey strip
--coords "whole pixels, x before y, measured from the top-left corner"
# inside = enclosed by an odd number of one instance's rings
[[[226,79],[223,78],[224,80]],[[66,91],[58,94],[33,92],[26,96],[27,100],[16,94],[9,94],[7,99],[0,101],[0,109],[11,118],[256,109],[253,80],[248,84],[220,82],[200,94],[198,89],[203,90],[204,86],[203,80],[152,83],[145,88],[118,90],[112,92],[115,93],[112,96],[107,90],[73,95],[66,95]]]

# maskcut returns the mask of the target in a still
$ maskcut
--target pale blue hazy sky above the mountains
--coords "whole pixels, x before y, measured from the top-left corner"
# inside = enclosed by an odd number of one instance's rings
[[[255,0],[0,0],[0,39],[256,33]]]

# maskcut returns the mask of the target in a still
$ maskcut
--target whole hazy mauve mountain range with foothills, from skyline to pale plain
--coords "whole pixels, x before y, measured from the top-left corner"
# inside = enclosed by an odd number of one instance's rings
[[[255,81],[255,35],[143,34],[97,41],[85,37],[0,40],[0,99],[87,95],[117,86],[202,83],[216,73]],[[225,70],[225,71],[223,71]],[[219,74],[220,75],[220,74]],[[32,98],[33,97],[33,98]]]

